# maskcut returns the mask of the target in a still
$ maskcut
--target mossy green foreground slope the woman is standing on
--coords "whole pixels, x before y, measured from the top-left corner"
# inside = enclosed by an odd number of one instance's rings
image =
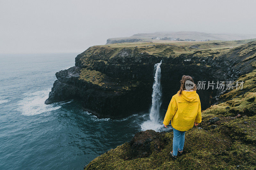
[[[256,93],[248,92],[204,110],[198,127],[186,132],[185,154],[175,161],[169,156],[173,132],[167,132],[162,135],[162,140],[167,141],[163,149],[154,150],[153,140],[152,154],[146,158],[129,159],[132,148],[127,142],[95,158],[85,169],[256,169],[256,115],[248,116],[244,111],[255,103],[254,96]],[[242,115],[231,117],[237,115],[229,112],[233,108],[243,111],[239,112]],[[211,124],[212,117],[220,120]]]

